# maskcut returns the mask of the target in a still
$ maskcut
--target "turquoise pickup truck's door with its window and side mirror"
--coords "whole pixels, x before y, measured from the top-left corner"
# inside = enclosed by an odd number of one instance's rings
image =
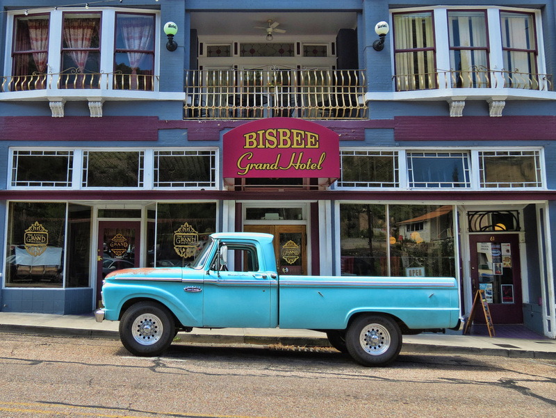
[[[270,326],[273,280],[259,266],[254,245],[231,243],[217,252],[204,279],[205,327]]]

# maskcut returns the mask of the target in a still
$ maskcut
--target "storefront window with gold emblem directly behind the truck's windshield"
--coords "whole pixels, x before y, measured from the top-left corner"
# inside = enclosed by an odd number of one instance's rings
[[[213,232],[216,232],[215,203],[159,203],[156,266],[186,266]]]

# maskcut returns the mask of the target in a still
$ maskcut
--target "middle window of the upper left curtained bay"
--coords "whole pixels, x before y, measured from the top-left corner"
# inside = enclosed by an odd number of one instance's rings
[[[60,88],[98,88],[100,13],[64,13]]]

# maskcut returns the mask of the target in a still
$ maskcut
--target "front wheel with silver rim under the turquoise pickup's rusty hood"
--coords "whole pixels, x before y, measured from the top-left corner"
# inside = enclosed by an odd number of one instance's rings
[[[120,321],[120,339],[127,350],[142,357],[160,355],[172,344],[174,319],[163,305],[139,302]]]

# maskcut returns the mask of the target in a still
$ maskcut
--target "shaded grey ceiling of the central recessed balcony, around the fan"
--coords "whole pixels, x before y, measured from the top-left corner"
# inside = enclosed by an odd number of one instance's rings
[[[263,35],[268,19],[279,22],[278,29],[288,36],[336,35],[339,29],[355,29],[357,13],[354,12],[193,12],[191,27],[199,35]]]

